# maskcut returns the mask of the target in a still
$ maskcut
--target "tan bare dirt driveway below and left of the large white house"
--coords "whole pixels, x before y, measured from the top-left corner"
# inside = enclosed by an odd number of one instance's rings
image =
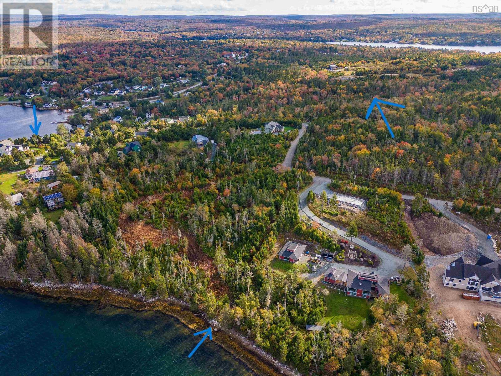
[[[442,275],[446,265],[446,263],[437,264],[429,269],[430,292],[435,294],[432,308],[440,313],[440,321],[444,318],[453,318],[458,329],[455,335],[480,351],[487,362],[490,374],[499,375],[501,365],[494,361],[485,343],[476,338],[473,321],[476,321],[479,312],[488,313],[498,319],[501,317],[501,304],[466,300],[462,298],[462,290],[445,287],[442,284]]]

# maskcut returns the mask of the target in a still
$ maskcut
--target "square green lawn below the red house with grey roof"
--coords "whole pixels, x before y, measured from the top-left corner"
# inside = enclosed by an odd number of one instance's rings
[[[349,330],[361,328],[363,319],[370,324],[370,303],[367,299],[346,296],[331,289],[329,291],[331,293],[325,298],[327,311],[322,319],[323,324],[341,321],[343,327]]]

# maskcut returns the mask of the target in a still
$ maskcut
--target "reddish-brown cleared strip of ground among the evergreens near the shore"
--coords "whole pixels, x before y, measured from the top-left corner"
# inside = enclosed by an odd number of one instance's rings
[[[139,205],[144,201],[157,201],[163,199],[164,194],[156,194],[153,196],[143,197],[133,202],[134,205]],[[154,247],[159,247],[164,243],[164,237],[161,230],[153,227],[145,221],[131,221],[125,213],[121,213],[118,219],[118,226],[122,231],[122,239],[131,250],[136,249],[136,242],[147,243],[150,241]],[[173,220],[169,220],[168,229],[166,229],[166,236],[169,238],[171,244],[177,243],[178,239],[178,226]],[[222,296],[228,292],[228,287],[222,283],[219,275],[216,273],[216,268],[212,263],[212,259],[203,253],[200,245],[197,243],[194,236],[181,229],[181,238],[188,239],[188,249],[186,257],[188,260],[196,264],[202,269],[210,278],[209,287],[216,294]]]

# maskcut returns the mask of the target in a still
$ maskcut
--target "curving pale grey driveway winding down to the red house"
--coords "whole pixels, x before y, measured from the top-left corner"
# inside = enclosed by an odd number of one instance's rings
[[[346,233],[334,226],[333,224],[324,221],[323,219],[317,217],[313,212],[308,208],[308,205],[306,205],[306,198],[308,196],[309,191],[315,191],[315,192],[322,192],[322,191],[329,191],[328,189],[328,184],[331,182],[331,179],[327,177],[322,177],[322,176],[315,176],[313,178],[313,183],[307,187],[299,196],[299,215],[302,218],[308,217],[312,221],[317,222],[324,230],[336,232],[338,235],[350,240],[349,237],[346,236]],[[359,238],[353,238],[353,243],[357,244],[360,247],[363,247],[372,253],[376,254],[380,259],[381,263],[379,264],[378,267],[376,268],[364,268],[364,267],[359,267],[359,266],[353,266],[351,267],[354,270],[357,271],[369,271],[369,272],[375,272],[381,275],[387,275],[387,276],[392,276],[392,275],[399,275],[400,273],[398,272],[401,270],[404,266],[405,261],[401,259],[398,256],[392,255],[391,253],[388,253],[382,249],[379,249],[377,247],[374,247],[373,245],[364,242],[362,239]],[[339,263],[331,263],[331,266],[334,266],[336,268],[340,268],[343,270],[346,270],[350,268],[350,265],[347,264],[339,264]],[[325,272],[324,268],[321,268],[323,272]],[[318,271],[317,271],[318,272]]]

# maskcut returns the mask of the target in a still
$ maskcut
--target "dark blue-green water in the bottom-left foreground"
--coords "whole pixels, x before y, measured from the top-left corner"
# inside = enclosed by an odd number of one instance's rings
[[[254,375],[208,338],[188,358],[199,340],[160,313],[0,289],[0,375]]]

